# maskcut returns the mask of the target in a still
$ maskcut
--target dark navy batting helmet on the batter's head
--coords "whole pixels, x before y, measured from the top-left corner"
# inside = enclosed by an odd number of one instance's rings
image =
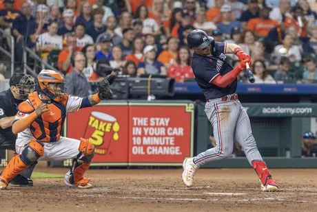
[[[191,48],[200,48],[203,49],[209,44],[212,44],[212,49],[214,47],[214,38],[208,36],[207,33],[203,30],[193,30],[187,36],[187,43]]]

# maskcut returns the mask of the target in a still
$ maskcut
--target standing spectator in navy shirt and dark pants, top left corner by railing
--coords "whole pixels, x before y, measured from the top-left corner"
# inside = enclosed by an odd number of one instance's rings
[[[39,23],[39,24],[38,24]],[[31,16],[31,6],[28,2],[21,4],[21,16],[17,16],[12,23],[12,34],[17,40],[15,45],[15,57],[18,67],[21,66],[23,59],[24,44],[33,48],[37,41],[37,36],[41,34],[44,20],[35,21]]]

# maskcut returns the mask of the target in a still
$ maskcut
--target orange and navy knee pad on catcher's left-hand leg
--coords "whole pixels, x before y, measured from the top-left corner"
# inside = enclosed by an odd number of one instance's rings
[[[31,165],[44,155],[44,148],[41,143],[32,140],[28,143],[28,146],[22,151],[20,158],[26,165]]]

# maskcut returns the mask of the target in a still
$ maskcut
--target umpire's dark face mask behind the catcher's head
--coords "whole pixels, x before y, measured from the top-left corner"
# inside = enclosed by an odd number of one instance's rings
[[[10,86],[16,86],[19,89],[19,99],[26,100],[28,95],[35,89],[34,78],[25,73],[14,73],[10,78]]]

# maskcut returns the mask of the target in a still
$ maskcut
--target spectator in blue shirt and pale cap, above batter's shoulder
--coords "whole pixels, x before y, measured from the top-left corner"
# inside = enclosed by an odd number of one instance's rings
[[[233,27],[239,27],[242,30],[240,21],[232,21],[232,8],[229,5],[223,5],[221,7],[221,16],[223,21],[218,23],[217,28],[225,34],[225,37],[229,38]]]

